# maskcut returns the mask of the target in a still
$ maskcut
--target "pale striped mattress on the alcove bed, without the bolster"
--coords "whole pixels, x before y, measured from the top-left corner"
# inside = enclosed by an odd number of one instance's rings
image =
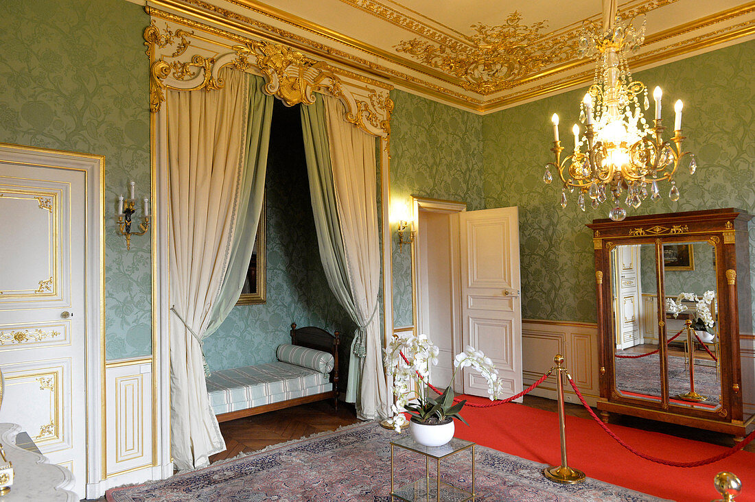
[[[333,390],[329,380],[327,373],[270,362],[213,371],[207,378],[207,390],[212,411],[220,414],[326,393]]]

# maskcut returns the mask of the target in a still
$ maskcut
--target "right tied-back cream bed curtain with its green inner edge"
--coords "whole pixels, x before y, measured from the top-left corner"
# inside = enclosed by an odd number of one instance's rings
[[[320,257],[328,285],[359,326],[347,401],[355,398],[360,418],[385,418],[390,396],[377,312],[380,248],[374,137],[346,122],[344,106],[334,97],[318,95],[314,105],[303,106],[302,125]]]

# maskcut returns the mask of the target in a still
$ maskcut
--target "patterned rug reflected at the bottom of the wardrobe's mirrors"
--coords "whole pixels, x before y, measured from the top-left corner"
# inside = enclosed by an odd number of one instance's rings
[[[633,353],[617,350],[618,355]],[[668,393],[671,398],[689,392],[689,369],[683,357],[669,357]],[[661,395],[661,365],[658,354],[636,359],[616,358],[616,388],[630,393]],[[712,362],[711,362],[712,364]],[[718,405],[721,385],[715,366],[702,365],[695,360],[695,392],[707,396],[705,405]]]

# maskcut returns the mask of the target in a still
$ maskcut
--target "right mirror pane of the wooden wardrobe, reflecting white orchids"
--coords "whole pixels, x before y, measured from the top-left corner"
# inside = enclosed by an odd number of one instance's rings
[[[668,347],[670,402],[716,411],[721,405],[716,248],[707,241],[664,243],[664,267],[667,334],[681,331]]]

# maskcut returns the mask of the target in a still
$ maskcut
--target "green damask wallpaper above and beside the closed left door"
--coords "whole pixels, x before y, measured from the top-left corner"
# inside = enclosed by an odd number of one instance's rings
[[[149,194],[142,8],[123,0],[3,0],[0,141],[104,155],[106,356],[151,352],[149,236],[131,251],[114,214],[128,180]]]

